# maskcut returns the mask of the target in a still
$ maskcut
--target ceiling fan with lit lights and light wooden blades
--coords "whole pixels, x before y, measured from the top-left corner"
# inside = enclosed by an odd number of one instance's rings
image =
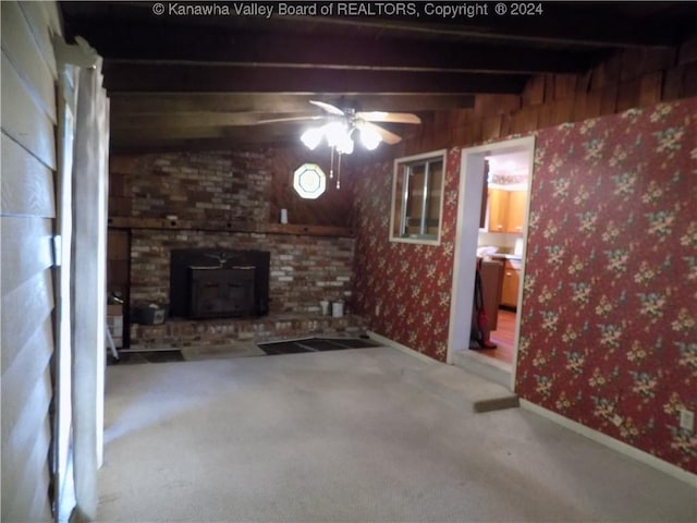
[[[327,139],[327,144],[337,149],[340,154],[353,153],[352,135],[358,132],[360,142],[369,149],[375,149],[381,142],[386,144],[396,144],[402,137],[388,131],[375,122],[384,123],[408,123],[419,124],[421,119],[409,112],[383,112],[383,111],[357,111],[355,108],[340,109],[337,106],[325,101],[309,100],[316,107],[325,111],[325,114],[315,114],[307,117],[289,117],[277,118],[270,120],[260,120],[257,123],[277,123],[292,121],[326,121],[327,123],[319,127],[310,127],[303,133],[301,139],[303,143],[314,149],[322,139]]]

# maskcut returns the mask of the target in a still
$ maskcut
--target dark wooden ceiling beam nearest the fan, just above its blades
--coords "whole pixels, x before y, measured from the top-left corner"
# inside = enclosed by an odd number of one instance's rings
[[[235,65],[112,63],[105,61],[110,92],[176,93],[430,93],[517,94],[525,76],[400,71],[257,69]]]

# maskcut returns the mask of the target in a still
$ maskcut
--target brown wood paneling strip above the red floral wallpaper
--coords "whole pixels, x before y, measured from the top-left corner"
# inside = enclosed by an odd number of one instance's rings
[[[472,109],[424,121],[392,155],[469,146],[695,95],[697,40],[676,49],[626,50],[584,74],[536,76],[521,96],[477,95]]]

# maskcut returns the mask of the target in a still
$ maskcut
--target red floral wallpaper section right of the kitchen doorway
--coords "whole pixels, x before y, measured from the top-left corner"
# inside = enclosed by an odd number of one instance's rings
[[[697,472],[697,98],[539,131],[516,390]]]

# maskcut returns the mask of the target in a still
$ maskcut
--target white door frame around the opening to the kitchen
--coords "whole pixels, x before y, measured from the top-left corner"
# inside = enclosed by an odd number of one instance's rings
[[[462,149],[460,165],[460,190],[457,198],[457,221],[455,229],[455,248],[453,254],[453,284],[450,302],[450,328],[448,332],[447,363],[452,364],[456,351],[469,350],[469,332],[472,329],[472,307],[475,289],[475,266],[477,260],[477,238],[479,235],[479,218],[481,212],[481,193],[484,190],[485,158],[496,154],[528,153],[529,173],[528,194],[533,179],[535,161],[535,136],[506,139],[476,147]],[[527,198],[523,238],[527,239],[527,224],[530,210],[530,198]],[[521,282],[525,281],[525,259],[527,241],[524,241]],[[511,368],[510,389],[515,389],[515,372],[521,329],[521,311],[523,304],[523,284],[518,287],[517,312],[515,321],[515,340],[513,363]],[[463,321],[462,318],[465,318]],[[485,357],[484,360],[489,360]],[[467,368],[466,363],[464,367]]]

